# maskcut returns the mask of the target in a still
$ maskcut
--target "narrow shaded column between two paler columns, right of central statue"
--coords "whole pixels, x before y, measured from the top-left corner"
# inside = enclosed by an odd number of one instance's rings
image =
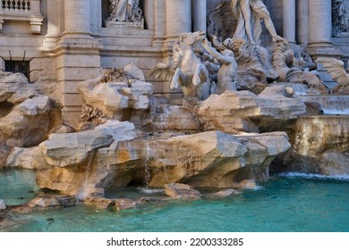
[[[303,48],[309,43],[309,0],[297,2],[297,42]]]

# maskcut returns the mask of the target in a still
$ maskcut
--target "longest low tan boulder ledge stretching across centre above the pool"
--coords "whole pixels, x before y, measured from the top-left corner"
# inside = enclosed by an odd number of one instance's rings
[[[98,188],[125,187],[130,183],[149,187],[177,182],[193,187],[243,187],[241,183],[246,179],[268,179],[270,162],[289,148],[287,136],[281,132],[233,136],[211,131],[119,140],[96,148],[84,163],[58,161],[55,167],[39,169],[37,181],[39,187],[81,199]],[[79,150],[70,148],[66,152],[74,157]]]

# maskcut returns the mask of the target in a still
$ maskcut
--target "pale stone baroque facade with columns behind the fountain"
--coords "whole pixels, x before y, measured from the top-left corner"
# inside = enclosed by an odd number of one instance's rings
[[[313,59],[349,59],[348,0],[265,0],[277,34]],[[55,106],[74,123],[81,113],[77,84],[100,68],[132,63],[149,71],[171,59],[183,32],[229,37],[237,20],[230,0],[9,0],[1,1],[0,66],[30,82],[53,82]],[[222,6],[219,6],[221,4]],[[223,17],[223,18],[222,18]],[[156,93],[168,83],[148,78]],[[330,80],[330,79],[328,79]],[[175,93],[171,93],[175,97]]]

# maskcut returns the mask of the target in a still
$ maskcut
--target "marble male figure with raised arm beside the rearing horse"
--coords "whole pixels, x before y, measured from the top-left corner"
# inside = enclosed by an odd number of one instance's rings
[[[236,90],[234,78],[236,76],[237,63],[235,62],[233,51],[225,49],[219,53],[216,48],[211,46],[207,39],[202,41],[202,46],[221,64],[217,73],[217,88],[215,93],[222,94],[226,90]]]

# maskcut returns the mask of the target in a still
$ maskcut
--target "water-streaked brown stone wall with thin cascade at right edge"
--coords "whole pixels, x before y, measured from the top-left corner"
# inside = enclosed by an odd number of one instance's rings
[[[294,165],[299,171],[349,174],[349,116],[302,116],[294,138]]]

